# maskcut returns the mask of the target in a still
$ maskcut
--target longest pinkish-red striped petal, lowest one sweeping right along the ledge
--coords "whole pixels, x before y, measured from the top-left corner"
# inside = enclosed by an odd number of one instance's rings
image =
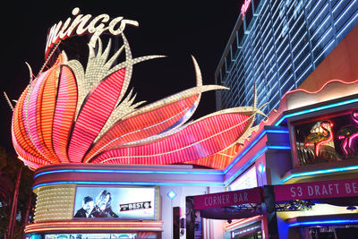
[[[182,131],[149,144],[111,149],[94,163],[175,164],[206,158],[230,146],[243,133],[248,115],[222,114],[205,117]]]

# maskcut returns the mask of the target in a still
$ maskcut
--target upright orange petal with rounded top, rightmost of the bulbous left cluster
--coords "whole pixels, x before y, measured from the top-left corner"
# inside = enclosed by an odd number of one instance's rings
[[[61,66],[53,124],[53,146],[61,162],[69,162],[67,144],[77,105],[77,84],[71,69]]]

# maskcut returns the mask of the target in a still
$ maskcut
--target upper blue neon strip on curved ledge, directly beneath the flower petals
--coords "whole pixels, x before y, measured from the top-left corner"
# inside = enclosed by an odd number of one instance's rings
[[[191,171],[155,171],[155,170],[114,170],[114,169],[58,169],[38,173],[39,175],[48,175],[56,173],[117,173],[117,174],[175,174],[175,175],[224,175],[223,172],[191,172]]]

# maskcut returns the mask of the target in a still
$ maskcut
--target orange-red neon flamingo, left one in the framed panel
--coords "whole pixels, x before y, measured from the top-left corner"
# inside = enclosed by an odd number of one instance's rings
[[[328,141],[333,140],[333,124],[324,120],[316,124],[310,134],[304,139],[304,146],[313,146],[314,155],[319,157],[320,146]]]

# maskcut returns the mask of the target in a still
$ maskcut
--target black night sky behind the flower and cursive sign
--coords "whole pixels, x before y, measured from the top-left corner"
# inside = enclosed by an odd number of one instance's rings
[[[214,73],[226,42],[240,13],[238,1],[55,1],[6,2],[2,26],[2,74],[0,90],[0,145],[13,150],[11,142],[12,112],[3,91],[18,99],[29,83],[28,62],[36,75],[44,63],[47,29],[72,16],[72,9],[81,13],[139,21],[138,28],[128,26],[128,39],[133,57],[167,55],[133,66],[132,88],[136,101],[148,103],[195,86],[191,55],[198,61],[203,84],[214,84]],[[52,4],[51,4],[52,3]],[[96,4],[95,4],[96,3]],[[10,6],[10,7],[9,7]],[[11,14],[11,18],[9,18]],[[215,92],[203,93],[197,113],[192,119],[216,111]]]

